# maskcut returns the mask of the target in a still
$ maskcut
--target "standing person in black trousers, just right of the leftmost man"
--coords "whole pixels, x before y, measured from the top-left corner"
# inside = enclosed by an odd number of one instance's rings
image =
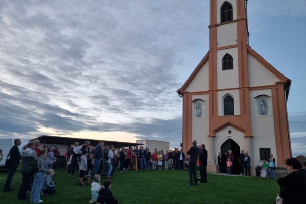
[[[18,192],[18,199],[25,200],[27,197],[25,194],[27,190],[30,189],[30,183],[33,177],[33,173],[30,172],[30,164],[35,162],[37,159],[34,149],[34,142],[28,142],[27,145],[24,145],[22,148],[21,155],[21,174],[22,174],[22,183]]]

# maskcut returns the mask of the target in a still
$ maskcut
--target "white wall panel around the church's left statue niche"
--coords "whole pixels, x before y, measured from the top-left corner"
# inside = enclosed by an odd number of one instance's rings
[[[192,140],[197,140],[198,144],[207,144],[209,134],[209,95],[193,95],[192,100],[202,99],[204,100],[204,117],[196,118],[192,117]],[[193,115],[193,114],[192,114]]]

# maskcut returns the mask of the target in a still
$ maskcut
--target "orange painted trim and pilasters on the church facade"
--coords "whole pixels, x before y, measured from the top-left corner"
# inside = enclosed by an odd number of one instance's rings
[[[286,114],[285,88],[290,85],[290,80],[281,72],[277,71],[271,64],[256,53],[248,43],[247,18],[245,16],[245,0],[237,0],[237,19],[217,24],[217,1],[210,0],[210,26],[209,26],[209,52],[201,60],[188,80],[179,89],[179,94],[183,96],[183,127],[182,143],[183,151],[187,151],[192,142],[192,95],[209,96],[209,124],[208,137],[215,137],[216,133],[222,131],[227,126],[232,126],[236,130],[244,133],[245,137],[253,137],[251,131],[251,112],[250,112],[250,91],[271,89],[273,120],[276,145],[276,159],[279,167],[285,166],[285,159],[290,157],[290,141],[288,133],[288,119]],[[237,23],[237,44],[224,47],[217,46],[217,27],[227,23]],[[217,87],[217,52],[222,49],[237,47],[238,50],[238,80],[239,86],[236,88],[218,89]],[[248,73],[248,54],[263,64],[270,72],[279,79],[274,85],[249,87]],[[208,91],[187,92],[186,89],[196,74],[205,63],[209,63]],[[219,62],[220,63],[220,62]],[[218,115],[218,91],[239,90],[240,115],[223,116]],[[256,137],[256,136],[255,136]],[[254,149],[257,154],[257,149]]]

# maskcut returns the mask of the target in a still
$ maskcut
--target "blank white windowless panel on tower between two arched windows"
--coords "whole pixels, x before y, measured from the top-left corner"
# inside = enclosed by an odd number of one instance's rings
[[[237,44],[237,22],[217,27],[217,43],[218,47]]]

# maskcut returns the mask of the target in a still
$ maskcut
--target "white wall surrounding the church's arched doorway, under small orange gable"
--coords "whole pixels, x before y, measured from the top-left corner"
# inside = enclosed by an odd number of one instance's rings
[[[228,130],[231,130],[231,134],[228,133]],[[231,126],[225,127],[223,130],[216,133],[216,139],[215,139],[216,164],[218,164],[217,156],[219,155],[219,152],[221,151],[221,146],[228,139],[234,140],[239,145],[240,150],[245,149],[244,133],[236,130],[234,127],[231,127]],[[224,152],[222,152],[222,154],[224,154]]]

